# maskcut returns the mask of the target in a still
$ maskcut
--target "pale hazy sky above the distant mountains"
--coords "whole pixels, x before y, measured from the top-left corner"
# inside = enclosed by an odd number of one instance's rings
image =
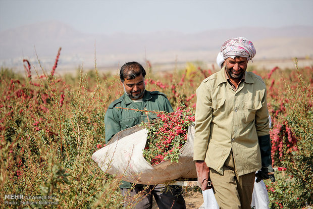
[[[312,0],[0,0],[0,31],[49,20],[82,32],[104,34],[313,26],[312,10]]]

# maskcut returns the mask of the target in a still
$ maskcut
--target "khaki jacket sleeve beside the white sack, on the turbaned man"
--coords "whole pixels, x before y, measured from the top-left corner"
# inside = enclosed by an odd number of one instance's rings
[[[195,137],[193,160],[203,161],[209,142],[212,122],[212,99],[208,85],[201,83],[196,90]]]

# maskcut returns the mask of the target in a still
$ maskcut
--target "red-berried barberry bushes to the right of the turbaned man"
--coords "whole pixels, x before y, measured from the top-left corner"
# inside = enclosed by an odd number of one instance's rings
[[[277,87],[271,84],[268,90],[272,156],[277,168],[277,181],[266,181],[272,208],[313,204],[313,69],[298,69],[297,60],[295,63],[294,70],[276,74],[271,83],[275,81]]]

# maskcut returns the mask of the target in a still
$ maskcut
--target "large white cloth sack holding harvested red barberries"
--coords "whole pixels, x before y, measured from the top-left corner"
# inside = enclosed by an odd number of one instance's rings
[[[142,156],[147,130],[137,125],[120,131],[109,143],[92,154],[102,171],[117,174],[124,181],[159,184],[180,178],[197,178],[193,162],[194,126],[188,128],[188,139],[180,149],[178,163],[171,160],[151,166]]]

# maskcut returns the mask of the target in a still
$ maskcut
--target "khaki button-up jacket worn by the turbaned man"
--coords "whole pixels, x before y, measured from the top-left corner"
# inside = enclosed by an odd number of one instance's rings
[[[262,78],[245,72],[244,82],[235,91],[226,80],[224,67],[204,79],[196,95],[193,160],[204,160],[208,167],[223,174],[223,165],[232,150],[237,175],[259,170],[262,164],[258,138],[270,131]]]

